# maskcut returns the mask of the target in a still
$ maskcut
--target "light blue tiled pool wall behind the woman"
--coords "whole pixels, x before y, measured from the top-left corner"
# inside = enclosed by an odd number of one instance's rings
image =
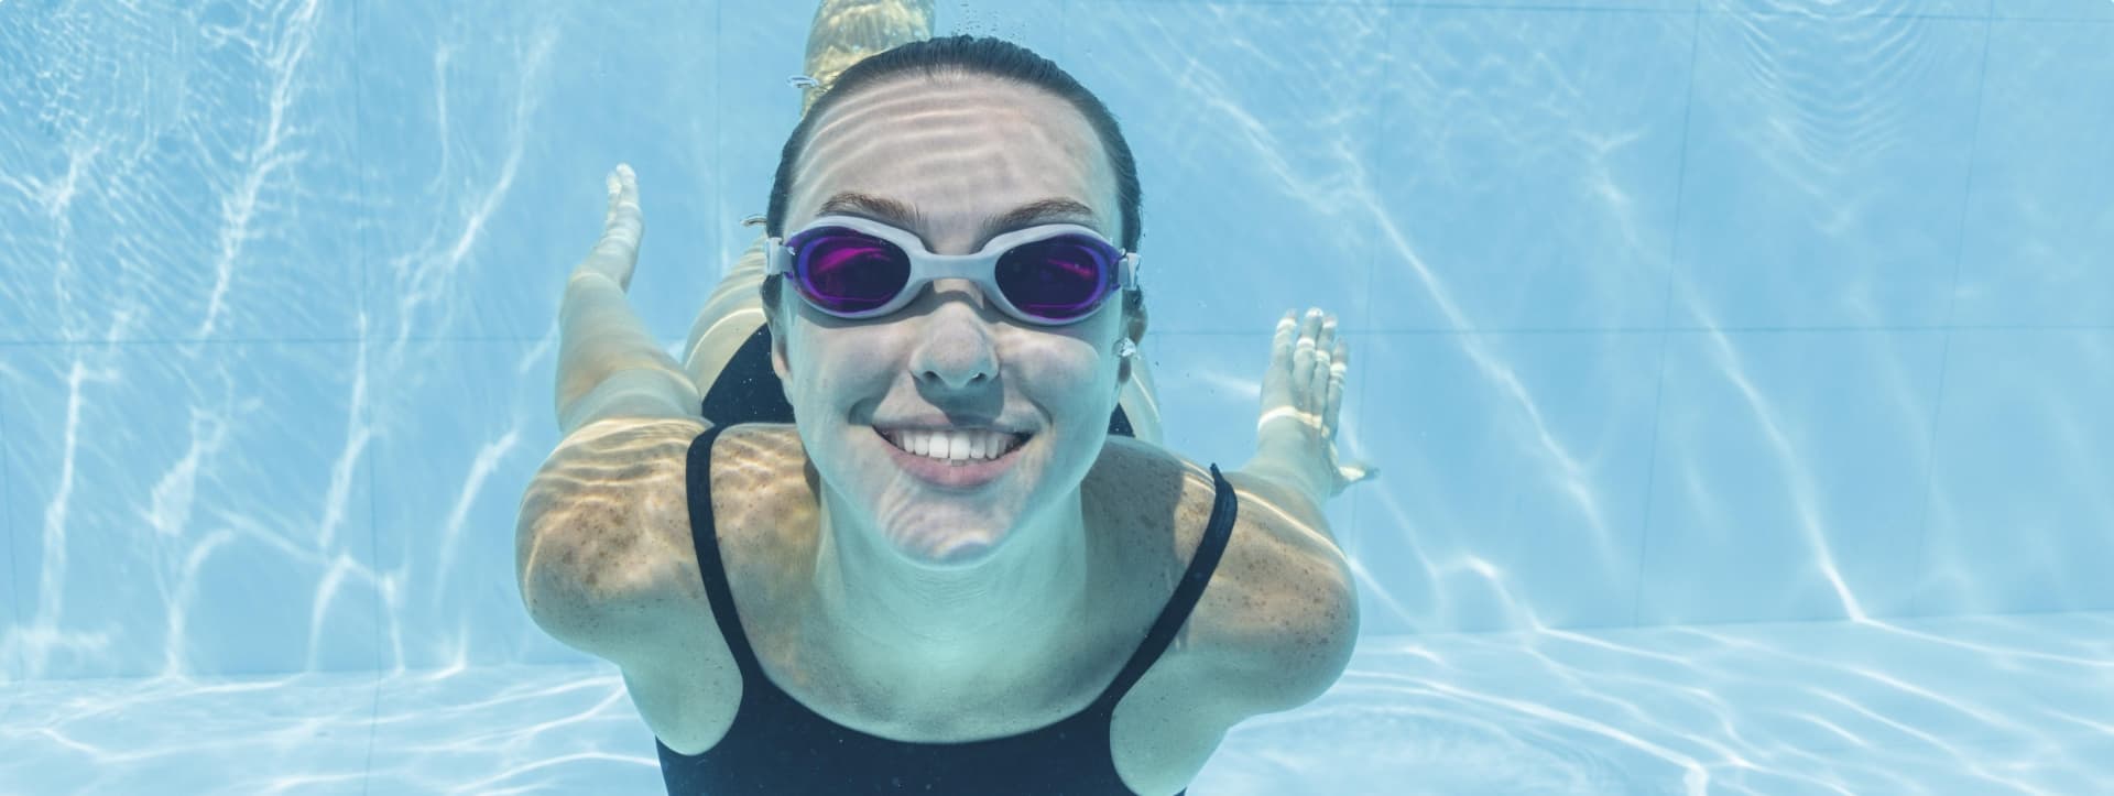
[[[2114,608],[2110,8],[939,21],[1120,114],[1171,448],[1245,462],[1271,325],[1342,317],[1408,633]],[[810,13],[0,6],[0,676],[579,661],[512,581],[558,287],[628,160],[681,342]]]

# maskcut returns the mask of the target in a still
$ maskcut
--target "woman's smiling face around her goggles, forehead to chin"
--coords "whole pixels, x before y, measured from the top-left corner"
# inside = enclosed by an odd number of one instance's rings
[[[1034,207],[1042,211],[1015,215]],[[829,108],[793,173],[784,232],[820,215],[896,226],[932,253],[975,253],[1038,224],[1123,236],[1116,179],[1084,116],[983,76],[903,76]],[[964,279],[934,281],[867,321],[822,315],[791,285],[780,296],[774,365],[808,458],[837,507],[871,513],[905,557],[981,560],[1074,496],[1101,452],[1120,386],[1120,293],[1061,327],[1017,321]],[[991,467],[994,479],[947,486],[890,441],[932,427],[991,429],[1019,448]]]

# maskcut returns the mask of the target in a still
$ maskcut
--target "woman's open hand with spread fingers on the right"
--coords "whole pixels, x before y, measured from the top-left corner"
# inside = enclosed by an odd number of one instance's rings
[[[1271,367],[1262,374],[1262,416],[1256,420],[1256,460],[1294,479],[1317,500],[1380,475],[1366,462],[1336,458],[1336,416],[1342,410],[1351,348],[1336,338],[1336,317],[1309,308],[1285,312],[1271,340]]]

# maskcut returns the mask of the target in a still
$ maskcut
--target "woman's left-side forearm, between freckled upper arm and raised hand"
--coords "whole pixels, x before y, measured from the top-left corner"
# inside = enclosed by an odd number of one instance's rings
[[[698,388],[607,274],[581,268],[558,306],[558,429],[615,416],[696,418]]]

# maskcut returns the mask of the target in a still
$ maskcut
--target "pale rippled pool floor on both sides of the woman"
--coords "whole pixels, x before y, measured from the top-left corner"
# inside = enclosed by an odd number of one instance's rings
[[[0,686],[0,794],[660,792],[613,667]],[[1190,794],[2084,794],[2114,612],[1366,638]]]

